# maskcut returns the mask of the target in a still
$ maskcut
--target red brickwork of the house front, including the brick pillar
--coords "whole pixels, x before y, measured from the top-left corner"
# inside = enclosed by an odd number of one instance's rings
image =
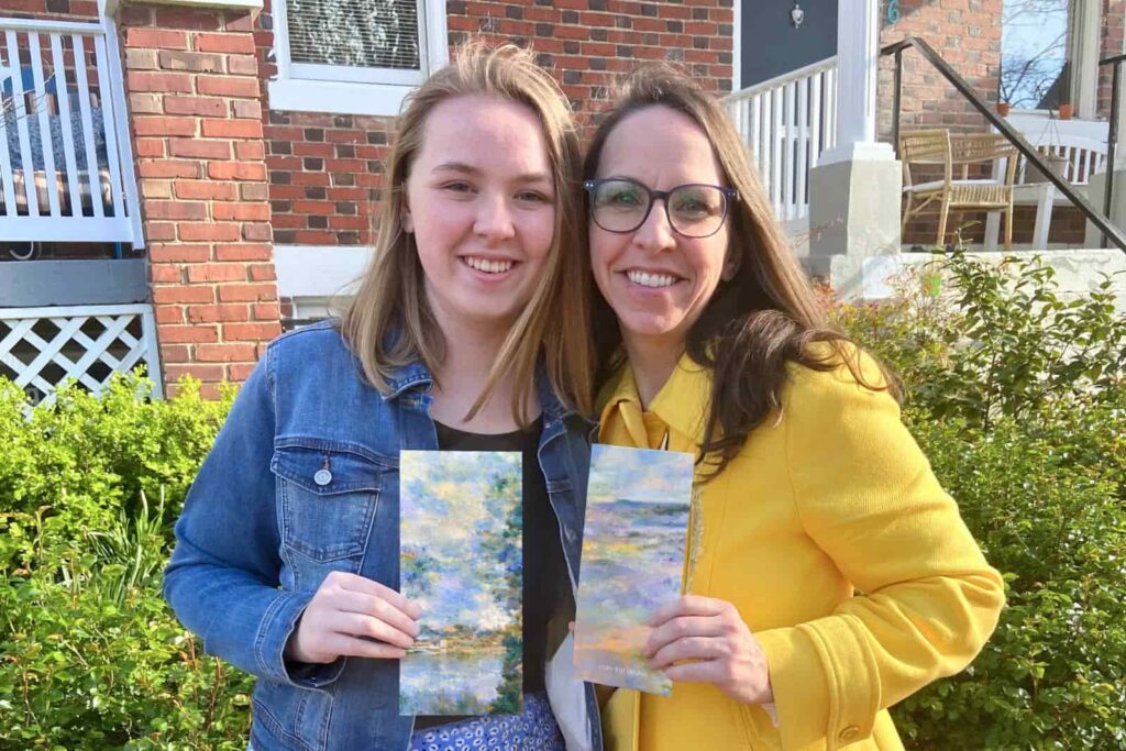
[[[680,63],[716,92],[731,88],[738,0],[447,0],[449,43],[511,41],[535,51],[584,125],[615,74],[640,61]],[[752,7],[742,0],[744,8]],[[841,0],[842,2],[844,0]],[[1126,0],[1102,0],[1100,56],[1121,51]],[[5,15],[90,19],[96,0],[3,0]],[[1000,72],[1002,0],[901,0],[882,44],[931,43],[988,101]],[[275,245],[368,245],[394,122],[271,110],[275,19],[125,0],[118,11],[136,171],[166,379],[241,379],[280,330]],[[744,51],[748,54],[748,51]],[[903,127],[980,131],[985,122],[929,63],[904,55]],[[879,132],[891,132],[892,60],[881,62]],[[1109,70],[1099,110],[1109,108]],[[1057,209],[1052,241],[1078,241],[1079,215]],[[1015,240],[1030,239],[1031,208]],[[954,227],[983,217],[955,217]],[[981,227],[969,226],[974,240]],[[904,240],[933,242],[935,224]]]

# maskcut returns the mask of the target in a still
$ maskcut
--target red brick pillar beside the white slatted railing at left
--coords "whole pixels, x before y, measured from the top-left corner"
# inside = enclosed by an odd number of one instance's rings
[[[135,3],[119,28],[164,381],[214,394],[282,330],[252,18]]]

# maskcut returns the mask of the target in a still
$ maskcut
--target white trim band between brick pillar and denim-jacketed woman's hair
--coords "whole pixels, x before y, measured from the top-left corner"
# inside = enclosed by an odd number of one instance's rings
[[[367,269],[372,249],[352,245],[275,245],[274,270],[282,297],[347,295]]]

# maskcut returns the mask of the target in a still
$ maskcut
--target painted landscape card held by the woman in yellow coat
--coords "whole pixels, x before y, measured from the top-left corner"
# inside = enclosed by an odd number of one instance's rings
[[[574,627],[580,678],[668,696],[642,656],[649,619],[680,596],[691,454],[593,446]]]

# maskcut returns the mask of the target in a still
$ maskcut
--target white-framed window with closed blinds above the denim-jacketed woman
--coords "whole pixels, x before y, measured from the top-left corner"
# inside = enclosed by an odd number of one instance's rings
[[[445,0],[276,0],[271,109],[395,115],[445,64]]]

